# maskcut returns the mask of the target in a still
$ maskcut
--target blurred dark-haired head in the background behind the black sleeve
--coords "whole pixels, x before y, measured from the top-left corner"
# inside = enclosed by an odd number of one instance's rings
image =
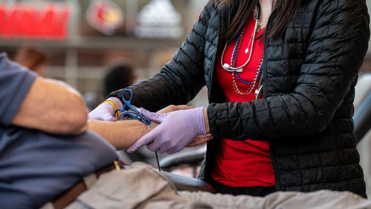
[[[134,84],[136,79],[134,70],[126,63],[109,68],[104,76],[104,96],[112,91],[123,89]]]

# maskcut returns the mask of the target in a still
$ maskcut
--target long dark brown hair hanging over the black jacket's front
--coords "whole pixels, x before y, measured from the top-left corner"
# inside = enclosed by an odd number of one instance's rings
[[[232,19],[229,27],[223,31],[223,39],[227,41],[234,41],[237,38],[239,31],[242,30],[248,18],[253,14],[253,10],[258,0],[214,0],[218,2],[219,6],[230,5],[234,1],[239,2],[236,15]],[[277,10],[275,19],[280,21],[274,21],[274,24],[269,30],[268,36],[270,38],[278,38],[282,35],[287,26],[287,23],[291,20],[293,15],[297,12],[302,0],[271,0],[272,11]]]

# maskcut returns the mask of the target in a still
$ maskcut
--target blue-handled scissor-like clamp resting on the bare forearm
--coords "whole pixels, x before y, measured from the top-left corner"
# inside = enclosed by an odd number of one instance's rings
[[[130,99],[127,101],[124,98],[124,95],[126,92],[130,93]],[[122,109],[118,109],[115,111],[116,112],[120,111],[121,114],[118,116],[118,119],[121,119],[122,117],[125,116],[130,116],[133,117],[139,121],[144,122],[147,125],[151,124],[151,120],[147,119],[142,113],[140,113],[140,109],[132,105],[132,100],[133,100],[133,91],[131,89],[126,89],[124,92],[122,92],[122,101],[124,102]]]

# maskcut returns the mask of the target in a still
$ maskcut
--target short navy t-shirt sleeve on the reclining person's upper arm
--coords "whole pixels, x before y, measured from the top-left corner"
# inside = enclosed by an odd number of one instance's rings
[[[37,75],[0,53],[0,124],[10,125]]]

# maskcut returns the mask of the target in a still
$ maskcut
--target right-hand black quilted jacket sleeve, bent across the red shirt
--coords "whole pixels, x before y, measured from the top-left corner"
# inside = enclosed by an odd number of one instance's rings
[[[324,0],[294,92],[251,103],[210,104],[214,136],[266,140],[323,131],[342,103],[367,52],[365,0]]]

